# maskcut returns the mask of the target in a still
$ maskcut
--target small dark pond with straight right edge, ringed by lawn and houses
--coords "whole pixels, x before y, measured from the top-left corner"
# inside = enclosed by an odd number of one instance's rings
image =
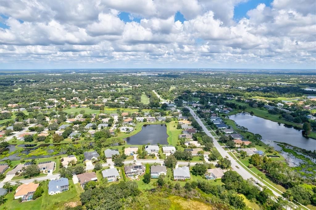
[[[167,126],[165,124],[149,125],[145,124],[142,130],[135,135],[124,139],[127,144],[168,144]]]

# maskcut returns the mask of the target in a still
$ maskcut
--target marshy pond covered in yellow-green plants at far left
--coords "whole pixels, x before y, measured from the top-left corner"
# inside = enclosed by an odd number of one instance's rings
[[[32,148],[29,148],[30,145],[18,145],[17,147],[15,147],[16,145],[15,144],[10,144],[8,147],[6,147],[4,149],[4,151],[2,151],[2,153],[0,154],[0,157],[1,155],[5,154],[5,153],[8,153],[10,154],[9,156],[5,155],[2,156],[0,158],[0,161],[2,160],[6,160],[6,159],[10,159],[10,160],[19,160],[21,158],[24,158],[24,159],[33,159],[33,158],[49,158],[49,157],[52,157],[54,155],[52,155],[52,153],[54,152],[54,145],[53,144],[40,144],[39,146],[37,147],[32,147]],[[29,153],[33,152],[34,150],[36,149],[39,149],[39,148],[42,148],[43,150],[46,150],[47,151],[47,155],[43,155],[43,154],[40,154],[40,155],[30,155],[30,156],[27,156]],[[60,155],[60,154],[63,154],[64,152],[60,152],[58,154],[55,154],[55,155]]]

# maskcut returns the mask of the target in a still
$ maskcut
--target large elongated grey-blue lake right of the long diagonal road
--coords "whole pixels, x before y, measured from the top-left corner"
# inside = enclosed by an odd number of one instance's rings
[[[315,139],[306,138],[302,135],[300,129],[293,128],[292,126],[282,123],[279,124],[261,117],[251,116],[248,113],[231,115],[229,119],[234,120],[238,125],[244,126],[248,131],[254,134],[260,134],[264,143],[269,143],[269,140],[279,141],[306,150],[313,151],[316,149]]]

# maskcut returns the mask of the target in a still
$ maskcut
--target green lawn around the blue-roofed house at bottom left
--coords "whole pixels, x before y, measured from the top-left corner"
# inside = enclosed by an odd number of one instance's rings
[[[34,201],[19,203],[18,200],[13,200],[15,192],[11,192],[5,196],[6,201],[1,206],[2,209],[5,207],[8,210],[58,210],[64,209],[64,205],[69,202],[80,203],[79,195],[83,190],[79,184],[75,185],[72,180],[69,180],[68,191],[56,195],[48,195],[48,181],[42,183],[44,193],[40,198]]]

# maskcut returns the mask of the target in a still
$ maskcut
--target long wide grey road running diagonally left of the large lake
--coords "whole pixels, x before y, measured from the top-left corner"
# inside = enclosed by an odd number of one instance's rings
[[[199,117],[197,117],[196,113],[190,108],[190,107],[186,107],[190,110],[190,113],[192,116],[194,116],[194,119],[197,121],[197,123],[199,123],[199,125],[202,127],[203,131],[210,137],[212,137],[214,139],[214,146],[216,147],[216,149],[218,150],[218,152],[222,155],[222,157],[228,157],[228,159],[231,161],[232,163],[232,169],[234,171],[236,171],[237,173],[240,174],[240,176],[242,176],[244,179],[249,179],[249,178],[253,178],[254,180],[257,180],[256,177],[254,177],[249,171],[247,171],[246,169],[244,169],[236,160],[234,160],[234,158],[232,158],[228,152],[226,150],[224,150],[224,148],[215,140],[215,136],[213,136],[210,131],[205,127],[205,125],[202,123],[201,119]],[[239,168],[236,168],[236,166],[238,166]],[[267,188],[269,188],[274,195],[276,196],[281,196],[282,195],[278,192],[276,192],[274,189],[270,188],[269,186],[265,185],[264,183],[262,183],[263,186],[266,186]]]

